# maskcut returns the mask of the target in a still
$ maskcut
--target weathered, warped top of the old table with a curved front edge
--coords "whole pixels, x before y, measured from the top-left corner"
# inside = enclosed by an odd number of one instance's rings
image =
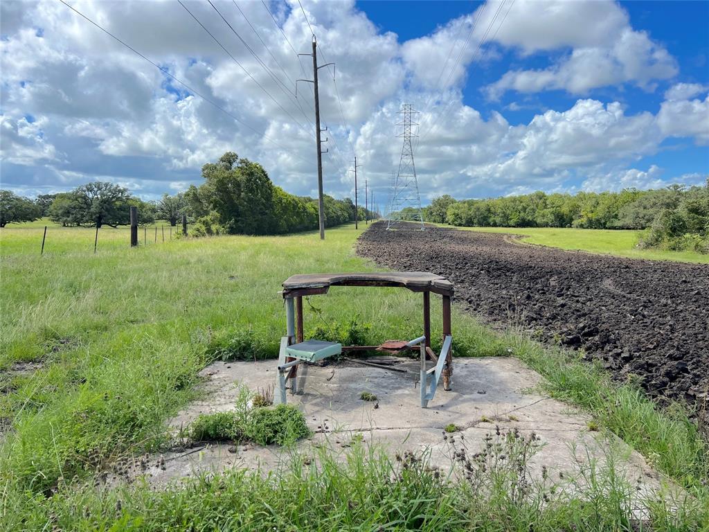
[[[325,294],[331,286],[404,287],[412,292],[453,295],[453,283],[429,272],[313,273],[291,275],[283,282],[283,296]]]

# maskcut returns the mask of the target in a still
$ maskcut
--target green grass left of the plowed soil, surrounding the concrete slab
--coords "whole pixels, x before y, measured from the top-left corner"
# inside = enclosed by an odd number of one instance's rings
[[[479,493],[430,483],[423,470],[406,481],[411,484],[391,489],[384,479],[386,467],[393,466],[374,460],[367,468],[357,461],[364,460],[360,455],[348,466],[353,470],[328,466],[331,476],[325,480],[333,492],[323,487],[323,477],[307,470],[273,479],[284,489],[297,487],[297,504],[291,506],[269,497],[271,484],[243,475],[216,483],[198,480],[179,494],[140,486],[93,489],[101,468],[166,444],[167,419],[195,397],[197,372],[214,353],[276,355],[285,327],[277,292],[286,277],[376,267],[354,255],[364,226],[359,232],[352,225],[328,230],[325,242],[317,233],[302,233],[162,243],[159,230],[156,244],[155,230],[151,240],[149,229],[147,245],[135,249],[128,247],[127,229],[102,228],[95,255],[94,230],[51,226],[40,257],[43,226],[0,230],[0,421],[11,424],[0,440],[0,529],[214,530],[236,523],[224,521],[236,519],[235,511],[247,512],[240,515],[248,519],[233,529],[368,530],[382,522],[389,523],[384,530],[470,529],[474,516],[460,511],[461,505],[492,512],[490,523],[502,519],[499,512],[518,512],[504,519],[519,530],[569,529],[574,515],[587,511],[595,516],[588,519],[600,520],[595,529],[626,529],[606,526],[629,522],[621,506],[615,513],[599,506],[608,501],[579,506],[573,494],[549,511],[530,506],[519,514],[518,501],[495,499],[490,506]],[[379,289],[377,296],[340,288],[314,297],[322,318],[306,304],[306,335],[316,328],[333,335],[354,331],[368,343],[418,336],[420,297],[401,289]],[[440,331],[437,314],[432,326]],[[454,312],[453,334],[458,356],[512,354],[524,360],[546,378],[547,393],[591,412],[598,426],[691,490],[696,498],[681,506],[688,514],[667,514],[678,506],[664,501],[655,509],[658,523],[698,519],[695,503],[709,501],[702,485],[709,477],[708,450],[681,408],[660,411],[642,393],[614,384],[576,355],[515,331],[493,332],[460,311]],[[22,361],[33,361],[38,369],[15,372]],[[344,493],[345,485],[356,488],[356,508],[347,506],[347,497],[339,503],[332,498]],[[430,509],[412,506],[411,497],[437,505],[449,525],[429,515]],[[310,525],[301,521],[303,515],[310,516]]]

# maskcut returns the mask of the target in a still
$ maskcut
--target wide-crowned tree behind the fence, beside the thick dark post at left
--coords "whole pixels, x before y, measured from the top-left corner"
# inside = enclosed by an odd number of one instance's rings
[[[127,225],[130,223],[131,199],[128,189],[116,184],[87,183],[58,195],[50,208],[50,218],[62,225],[99,228]]]

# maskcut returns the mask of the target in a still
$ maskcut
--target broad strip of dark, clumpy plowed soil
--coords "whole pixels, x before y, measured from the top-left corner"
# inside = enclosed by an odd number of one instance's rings
[[[444,275],[457,304],[584,348],[659,399],[702,399],[709,385],[709,266],[523,245],[510,235],[447,228],[386,231],[357,252],[393,270]]]

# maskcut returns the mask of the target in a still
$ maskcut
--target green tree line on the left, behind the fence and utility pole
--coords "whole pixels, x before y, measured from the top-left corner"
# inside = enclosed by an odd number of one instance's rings
[[[257,162],[227,152],[202,167],[203,184],[184,193],[143,201],[125,187],[107,182],[83,184],[70,192],[40,194],[36,199],[0,191],[0,227],[48,216],[62,226],[125,226],[130,207],[138,207],[141,225],[166,220],[176,226],[189,217],[191,234],[270,235],[318,228],[318,201],[294,196],[271,182]],[[359,207],[358,216],[376,218]],[[354,221],[352,200],[325,196],[325,226]]]

